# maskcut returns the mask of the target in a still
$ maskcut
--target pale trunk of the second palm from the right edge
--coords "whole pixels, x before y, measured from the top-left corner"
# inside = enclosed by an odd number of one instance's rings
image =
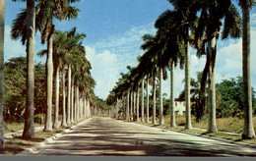
[[[217,133],[216,126],[216,87],[215,87],[215,64],[216,64],[216,38],[212,38],[208,43],[208,54],[210,54],[210,69],[209,69],[209,121],[208,133]]]

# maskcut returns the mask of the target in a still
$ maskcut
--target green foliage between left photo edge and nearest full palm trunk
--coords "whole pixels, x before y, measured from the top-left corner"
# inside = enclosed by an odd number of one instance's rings
[[[26,58],[11,58],[4,66],[5,120],[22,121],[26,103]]]

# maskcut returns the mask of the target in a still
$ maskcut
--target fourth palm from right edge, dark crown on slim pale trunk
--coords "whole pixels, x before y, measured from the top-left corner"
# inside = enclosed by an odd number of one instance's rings
[[[160,67],[168,67],[170,70],[170,126],[175,127],[174,116],[174,68],[179,61],[180,69],[184,65],[184,43],[182,41],[180,26],[180,14],[177,11],[165,11],[155,23],[157,34],[162,46]],[[181,27],[182,28],[182,27]]]

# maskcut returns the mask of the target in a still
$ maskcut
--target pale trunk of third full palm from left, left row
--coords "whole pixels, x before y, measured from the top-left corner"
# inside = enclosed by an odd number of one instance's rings
[[[55,76],[55,117],[53,128],[59,129],[59,67],[56,69]]]

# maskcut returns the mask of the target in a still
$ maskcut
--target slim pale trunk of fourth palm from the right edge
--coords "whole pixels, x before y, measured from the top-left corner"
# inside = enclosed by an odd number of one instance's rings
[[[170,69],[170,127],[176,127],[175,122],[175,99],[174,99],[174,62],[171,62]]]

